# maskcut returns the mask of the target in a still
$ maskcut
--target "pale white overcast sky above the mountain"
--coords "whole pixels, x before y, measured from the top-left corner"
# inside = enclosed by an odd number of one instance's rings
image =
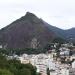
[[[0,29],[27,11],[58,28],[75,27],[75,0],[0,0]]]

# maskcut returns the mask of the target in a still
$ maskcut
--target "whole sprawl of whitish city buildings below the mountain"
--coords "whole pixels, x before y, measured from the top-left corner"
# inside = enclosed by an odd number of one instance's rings
[[[75,49],[73,44],[62,44],[59,48],[59,57],[57,57],[55,49],[46,54],[22,54],[20,56],[14,55],[13,57],[23,64],[32,64],[41,75],[47,75],[47,69],[50,75],[75,75],[75,54],[70,55],[71,49]],[[8,56],[11,59],[13,57]]]

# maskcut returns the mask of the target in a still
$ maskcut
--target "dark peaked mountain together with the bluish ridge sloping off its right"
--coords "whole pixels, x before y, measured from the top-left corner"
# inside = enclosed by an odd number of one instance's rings
[[[0,30],[0,44],[6,48],[43,48],[57,37],[75,38],[75,29],[59,29],[30,12]]]

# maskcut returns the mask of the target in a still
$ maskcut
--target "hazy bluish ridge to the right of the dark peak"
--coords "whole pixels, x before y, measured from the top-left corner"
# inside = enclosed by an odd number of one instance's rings
[[[44,22],[44,23],[48,27],[49,30],[52,30],[56,34],[55,38],[59,38],[59,39],[62,38],[67,42],[75,43],[75,28],[63,30],[63,29],[54,27],[46,22]]]

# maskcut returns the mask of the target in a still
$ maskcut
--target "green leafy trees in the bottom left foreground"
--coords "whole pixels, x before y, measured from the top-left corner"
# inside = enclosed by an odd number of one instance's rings
[[[0,54],[0,75],[37,75],[36,68],[31,64],[21,64],[17,60],[6,60]]]

